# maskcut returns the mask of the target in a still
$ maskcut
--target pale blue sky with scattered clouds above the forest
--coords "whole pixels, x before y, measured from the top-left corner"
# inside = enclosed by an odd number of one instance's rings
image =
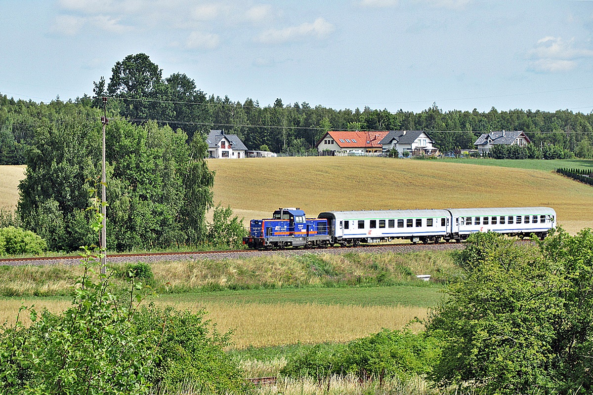
[[[129,54],[206,95],[593,111],[593,1],[0,0],[0,94],[93,95]]]

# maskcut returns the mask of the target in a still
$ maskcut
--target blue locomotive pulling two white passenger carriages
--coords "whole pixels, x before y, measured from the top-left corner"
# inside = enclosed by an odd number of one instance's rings
[[[356,246],[410,240],[462,242],[471,233],[496,232],[543,239],[556,227],[550,207],[446,208],[443,210],[324,211],[307,218],[298,207],[278,208],[250,221],[243,244],[252,249]]]

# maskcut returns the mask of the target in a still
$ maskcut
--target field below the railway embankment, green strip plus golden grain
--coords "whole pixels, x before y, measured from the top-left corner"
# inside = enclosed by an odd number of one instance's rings
[[[181,310],[209,311],[221,332],[233,330],[233,347],[346,342],[384,327],[401,329],[426,317],[439,287],[305,288],[168,294],[148,301]],[[66,297],[0,298],[0,320],[14,322],[18,308],[65,310]],[[24,314],[26,316],[26,314]],[[270,320],[270,317],[274,317]],[[25,321],[27,318],[25,317]],[[419,329],[413,325],[412,329]]]

